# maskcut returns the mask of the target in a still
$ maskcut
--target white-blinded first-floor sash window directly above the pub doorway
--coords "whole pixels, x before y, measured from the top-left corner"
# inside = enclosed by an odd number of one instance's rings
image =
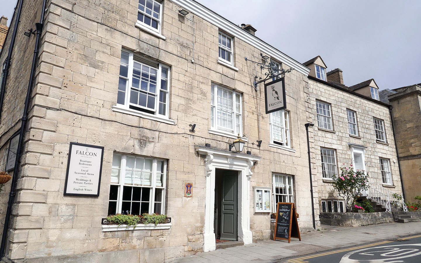
[[[211,127],[230,134],[242,135],[241,93],[213,84],[210,95]]]

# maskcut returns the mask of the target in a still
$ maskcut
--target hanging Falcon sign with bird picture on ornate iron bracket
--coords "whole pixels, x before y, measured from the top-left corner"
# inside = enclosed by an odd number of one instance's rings
[[[264,100],[266,114],[286,109],[285,78],[281,77],[264,85]]]

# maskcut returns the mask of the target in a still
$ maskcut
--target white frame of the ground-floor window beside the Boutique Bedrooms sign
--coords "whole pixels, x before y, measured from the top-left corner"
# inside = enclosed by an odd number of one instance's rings
[[[125,183],[125,169],[126,169],[126,160],[127,157],[137,157],[137,158],[143,158],[143,159],[149,159],[152,160],[152,176],[150,178],[151,185],[150,186],[143,186],[143,185],[134,185],[134,184],[126,184]],[[155,202],[161,203],[161,214],[165,213],[165,189],[166,189],[166,175],[167,175],[167,161],[165,159],[158,159],[158,158],[151,158],[151,157],[144,157],[139,155],[132,155],[132,154],[120,154],[120,153],[114,153],[114,157],[120,157],[120,167],[112,165],[113,172],[115,170],[120,170],[120,174],[117,175],[118,181],[115,180],[116,177],[111,177],[110,187],[115,185],[118,186],[118,194],[117,194],[117,206],[116,206],[116,213],[122,212],[122,206],[123,206],[123,186],[129,186],[129,187],[140,187],[140,188],[150,188],[149,191],[149,214],[156,213],[155,212]],[[162,186],[157,186],[157,162],[162,161],[163,162],[163,171],[162,173]],[[113,173],[112,172],[112,173]],[[156,189],[162,189],[162,195],[161,200],[157,201],[155,200],[155,190]],[[115,200],[109,200],[109,202],[115,202]],[[131,201],[133,202],[133,201]],[[140,211],[140,210],[139,210]],[[123,211],[124,212],[124,211]]]

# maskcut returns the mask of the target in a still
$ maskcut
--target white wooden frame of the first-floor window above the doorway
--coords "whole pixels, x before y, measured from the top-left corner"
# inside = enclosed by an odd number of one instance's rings
[[[211,123],[210,127],[211,129],[210,131],[216,131],[216,132],[220,132],[226,135],[232,135],[232,136],[235,136],[235,138],[237,138],[238,134],[240,134],[241,136],[242,135],[242,94],[235,90],[224,88],[217,84],[212,84],[210,88],[211,88],[211,91],[210,91],[211,93],[211,101],[210,101],[210,123]],[[217,113],[218,113],[218,109],[220,109],[217,103],[218,101],[217,90],[218,89],[221,89],[222,91],[226,91],[226,92],[232,92],[232,112],[231,112],[232,128],[233,128],[232,131],[229,130],[228,128],[224,128],[218,125]],[[237,100],[237,96],[239,97],[239,101]],[[223,110],[226,110],[226,109],[223,109]],[[237,120],[237,116],[238,116],[238,120]]]

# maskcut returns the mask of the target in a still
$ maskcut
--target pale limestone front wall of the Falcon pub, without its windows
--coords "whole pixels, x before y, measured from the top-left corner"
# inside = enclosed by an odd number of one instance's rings
[[[32,93],[22,178],[13,208],[10,258],[31,262],[60,256],[84,262],[95,252],[104,260],[130,256],[143,262],[148,257],[165,260],[200,251],[205,165],[194,145],[210,143],[214,148],[228,149],[233,140],[208,133],[211,83],[242,93],[242,129],[248,139],[244,152],[262,157],[250,179],[253,240],[270,236],[269,213],[253,211],[253,186],[272,187],[273,173],[293,175],[301,230],[312,229],[304,128],[312,119],[309,80],[296,71],[285,77],[295,152],[270,147],[263,85],[254,90],[256,67],[244,60],[245,56],[257,60],[261,51],[234,38],[238,71],[218,64],[218,27],[192,13],[179,15],[180,7],[169,0],[163,5],[161,34],[165,40],[134,26],[137,1],[51,1]],[[169,118],[174,124],[112,109],[117,104],[122,48],[171,66]],[[13,108],[11,101],[7,105]],[[192,123],[197,125],[196,133],[189,132]],[[313,144],[312,130],[310,133]],[[256,140],[263,141],[260,148]],[[104,146],[99,197],[63,196],[70,142]],[[165,213],[172,218],[170,230],[101,231],[101,218],[108,211],[114,152],[168,161]],[[316,153],[312,149],[312,159]],[[193,197],[183,195],[187,182],[193,183]],[[314,181],[316,203],[317,187]]]

